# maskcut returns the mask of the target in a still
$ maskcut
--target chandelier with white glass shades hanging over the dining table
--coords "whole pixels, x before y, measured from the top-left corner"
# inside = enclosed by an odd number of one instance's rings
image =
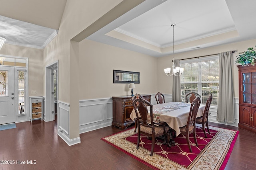
[[[182,74],[182,72],[184,71],[184,68],[180,68],[180,67],[176,67],[174,65],[174,26],[176,24],[173,23],[172,26],[172,55],[173,55],[173,61],[172,61],[172,74],[170,74],[171,72],[171,68],[165,68],[164,69],[164,73],[166,74],[166,76],[180,76]]]

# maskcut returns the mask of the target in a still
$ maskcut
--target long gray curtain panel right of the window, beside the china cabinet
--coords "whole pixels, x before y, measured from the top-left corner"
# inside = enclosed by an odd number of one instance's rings
[[[234,123],[233,57],[231,52],[220,56],[220,84],[217,121]]]

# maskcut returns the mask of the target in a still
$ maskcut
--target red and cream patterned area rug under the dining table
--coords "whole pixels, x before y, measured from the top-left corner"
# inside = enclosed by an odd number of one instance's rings
[[[186,137],[181,134],[174,139],[176,145],[170,148],[157,138],[153,156],[150,156],[151,141],[146,136],[141,136],[140,147],[136,149],[137,133],[134,133],[134,128],[102,140],[156,170],[224,170],[239,132],[212,126],[209,129],[210,134],[207,133],[206,138],[202,125],[197,126],[198,147],[190,135],[192,153]]]

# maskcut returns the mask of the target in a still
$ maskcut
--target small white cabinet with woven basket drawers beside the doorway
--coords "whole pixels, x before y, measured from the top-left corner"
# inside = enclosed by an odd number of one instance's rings
[[[43,98],[33,97],[30,99],[30,121],[35,119],[43,120]]]

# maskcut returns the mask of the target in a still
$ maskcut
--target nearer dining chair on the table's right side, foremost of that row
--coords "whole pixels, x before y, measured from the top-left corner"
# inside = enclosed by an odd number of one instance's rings
[[[189,139],[189,135],[191,133],[193,133],[194,141],[196,143],[196,146],[198,147],[198,143],[196,140],[196,115],[197,115],[197,111],[200,104],[201,104],[200,98],[196,97],[194,101],[191,103],[187,124],[183,127],[180,127],[180,133],[183,135],[186,135],[188,148],[190,152],[192,152],[192,149],[190,146],[190,139]]]

